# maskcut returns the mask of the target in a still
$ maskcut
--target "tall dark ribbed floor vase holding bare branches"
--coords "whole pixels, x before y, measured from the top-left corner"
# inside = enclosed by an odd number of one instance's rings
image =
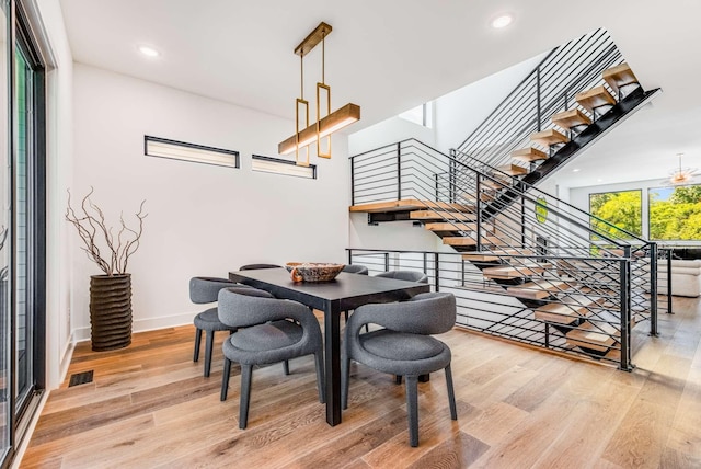
[[[95,352],[131,343],[131,275],[91,275],[90,327]]]

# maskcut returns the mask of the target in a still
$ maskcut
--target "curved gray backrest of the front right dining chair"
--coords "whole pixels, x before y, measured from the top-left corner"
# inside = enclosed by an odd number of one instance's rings
[[[441,334],[456,324],[456,297],[450,293],[418,294],[409,301],[365,305],[355,310],[347,328],[359,330],[372,322],[392,331]]]

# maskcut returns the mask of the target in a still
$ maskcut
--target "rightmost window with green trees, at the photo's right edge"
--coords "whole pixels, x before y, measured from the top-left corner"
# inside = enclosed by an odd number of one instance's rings
[[[701,240],[701,185],[647,190],[650,239]]]

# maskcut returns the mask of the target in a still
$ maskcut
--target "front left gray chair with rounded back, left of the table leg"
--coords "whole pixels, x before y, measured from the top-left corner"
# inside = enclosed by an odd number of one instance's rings
[[[221,380],[221,400],[225,401],[231,362],[241,365],[239,428],[245,428],[249,421],[253,365],[313,354],[319,401],[325,402],[321,328],[309,308],[254,288],[226,288],[219,291],[219,319],[231,328],[241,328],[223,342]]]

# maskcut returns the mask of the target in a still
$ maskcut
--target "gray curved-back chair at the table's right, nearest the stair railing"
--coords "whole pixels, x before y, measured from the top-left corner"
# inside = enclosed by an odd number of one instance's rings
[[[360,333],[372,322],[384,329]],[[350,361],[378,371],[406,378],[406,412],[411,446],[418,446],[418,376],[439,369],[446,373],[450,417],[458,419],[450,371],[450,348],[430,334],[452,329],[456,298],[449,293],[425,293],[409,301],[365,305],[346,324],[341,361],[341,403],[348,408]],[[235,334],[234,334],[235,335]]]

